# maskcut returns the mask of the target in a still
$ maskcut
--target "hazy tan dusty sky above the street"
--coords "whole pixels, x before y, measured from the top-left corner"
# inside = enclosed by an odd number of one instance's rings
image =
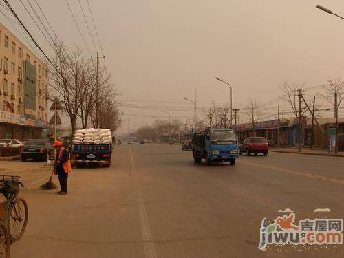
[[[29,8],[28,2],[22,1]],[[69,45],[84,47],[85,55],[89,56],[67,3],[36,1],[58,36]],[[30,2],[34,4],[33,0]],[[95,54],[78,1],[68,2],[89,50]],[[87,0],[80,2],[94,33]],[[43,49],[51,53],[21,3],[10,3]],[[194,99],[195,88],[200,107],[209,107],[212,101],[228,103],[228,88],[216,81],[215,76],[233,86],[233,107],[238,108],[248,98],[257,98],[261,103],[278,98],[281,91],[277,85],[285,80],[307,82],[305,87],[314,87],[326,84],[327,78],[344,77],[344,21],[315,8],[319,3],[344,14],[344,1],[89,0],[89,3],[108,72],[114,75],[116,87],[122,93],[121,109],[130,114],[131,130],[153,122],[150,116],[166,118],[160,109],[170,110],[172,119],[192,118],[192,104],[182,97]],[[34,8],[39,10],[35,5]],[[10,16],[3,7],[0,10]],[[2,14],[0,17],[1,23],[12,28]],[[100,51],[99,45],[96,47]],[[314,90],[306,91],[308,97],[314,94]],[[147,109],[147,105],[153,107]],[[274,103],[267,106],[268,115],[277,111],[277,105],[288,109],[285,103]],[[198,115],[202,115],[201,110]],[[127,117],[123,117],[122,132],[128,130]]]

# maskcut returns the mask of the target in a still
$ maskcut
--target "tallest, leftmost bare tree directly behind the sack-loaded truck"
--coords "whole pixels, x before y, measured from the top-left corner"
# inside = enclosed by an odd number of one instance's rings
[[[52,98],[58,99],[65,114],[69,116],[71,133],[76,129],[76,119],[87,96],[90,74],[94,72],[92,61],[83,57],[82,50],[69,50],[63,43],[55,45],[56,69],[50,71]]]

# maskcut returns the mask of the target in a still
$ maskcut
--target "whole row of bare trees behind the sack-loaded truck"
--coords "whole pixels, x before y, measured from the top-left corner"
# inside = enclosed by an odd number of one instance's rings
[[[63,43],[54,47],[54,68],[50,71],[50,98],[58,100],[70,119],[72,135],[76,121],[83,128],[89,125],[116,130],[122,120],[118,110],[118,90],[105,67],[97,69],[93,59],[79,48],[69,49]],[[98,112],[97,112],[98,106]],[[97,117],[97,114],[98,117]]]

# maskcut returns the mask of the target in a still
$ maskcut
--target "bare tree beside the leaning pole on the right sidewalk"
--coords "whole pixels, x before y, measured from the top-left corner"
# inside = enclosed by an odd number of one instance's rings
[[[305,116],[306,110],[302,108],[301,104],[301,91],[305,83],[288,83],[284,82],[279,85],[283,95],[281,98],[286,100],[292,107],[295,119],[297,121],[297,127],[299,129],[299,152],[301,152],[302,132],[303,132],[303,116]],[[299,96],[299,101],[296,97]],[[299,110],[299,111],[298,111]]]

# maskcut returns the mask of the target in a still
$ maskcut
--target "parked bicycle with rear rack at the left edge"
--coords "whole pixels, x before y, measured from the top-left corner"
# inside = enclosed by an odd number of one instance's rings
[[[11,244],[23,236],[28,224],[28,204],[25,199],[18,197],[20,186],[24,187],[18,176],[0,175],[0,193],[7,199],[5,224]]]

